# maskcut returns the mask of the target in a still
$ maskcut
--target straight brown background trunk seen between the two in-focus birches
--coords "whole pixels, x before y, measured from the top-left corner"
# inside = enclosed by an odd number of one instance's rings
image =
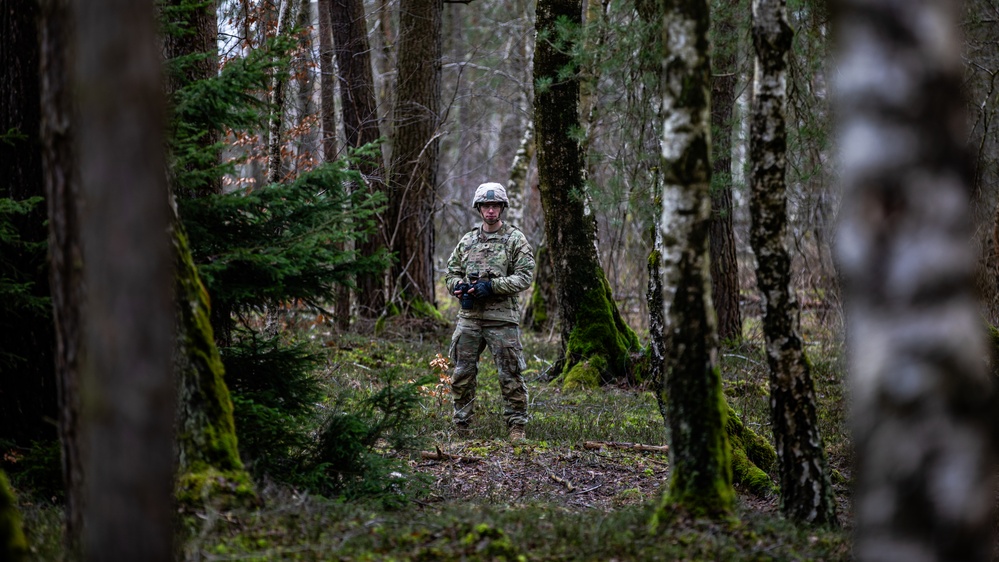
[[[742,339],[739,309],[739,262],[732,216],[732,108],[735,106],[737,40],[735,8],[718,3],[714,20],[715,51],[711,77],[711,300],[718,314],[718,337]]]

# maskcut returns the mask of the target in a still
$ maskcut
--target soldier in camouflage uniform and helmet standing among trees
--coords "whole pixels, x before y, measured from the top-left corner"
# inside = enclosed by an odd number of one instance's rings
[[[461,301],[458,325],[451,338],[451,393],[454,423],[467,430],[475,413],[479,355],[489,346],[503,391],[503,418],[510,440],[525,438],[527,423],[527,368],[520,344],[520,308],[517,293],[531,285],[534,251],[518,228],[504,224],[509,201],[498,183],[475,190],[472,206],[482,225],[462,236],[447,260],[448,291]]]

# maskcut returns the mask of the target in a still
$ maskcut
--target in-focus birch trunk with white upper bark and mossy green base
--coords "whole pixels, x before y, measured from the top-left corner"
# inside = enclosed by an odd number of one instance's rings
[[[711,306],[708,5],[669,0],[663,14],[663,306],[669,355],[658,396],[670,441],[668,502],[728,513],[735,500]]]

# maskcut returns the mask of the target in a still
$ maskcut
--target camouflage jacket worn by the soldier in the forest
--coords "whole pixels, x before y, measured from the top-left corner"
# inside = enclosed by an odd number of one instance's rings
[[[530,287],[534,277],[534,250],[524,233],[504,224],[496,232],[480,227],[462,236],[447,260],[448,292],[454,294],[455,286],[467,282],[470,273],[492,281],[493,294],[476,300],[471,310],[460,309],[458,316],[519,323],[517,293]]]

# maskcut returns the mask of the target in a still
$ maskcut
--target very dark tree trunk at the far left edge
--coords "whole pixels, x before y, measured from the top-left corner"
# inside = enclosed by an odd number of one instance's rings
[[[39,6],[0,0],[0,199],[21,202],[45,194],[39,140]],[[25,290],[0,289],[0,438],[27,445],[56,436],[55,335],[47,314],[45,206],[4,214],[17,241],[0,248],[0,277]],[[0,238],[6,238],[2,236]]]

